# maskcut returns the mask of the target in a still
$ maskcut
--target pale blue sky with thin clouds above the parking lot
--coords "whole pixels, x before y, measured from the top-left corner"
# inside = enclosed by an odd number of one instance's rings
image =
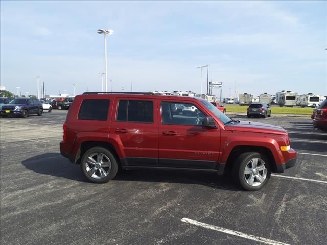
[[[114,91],[200,92],[200,69],[259,95],[327,95],[326,1],[1,1],[1,84],[36,94],[101,91],[104,38]],[[206,80],[206,71],[204,79]],[[108,87],[110,87],[108,85]],[[203,91],[206,90],[203,84]],[[218,94],[219,90],[214,90]]]

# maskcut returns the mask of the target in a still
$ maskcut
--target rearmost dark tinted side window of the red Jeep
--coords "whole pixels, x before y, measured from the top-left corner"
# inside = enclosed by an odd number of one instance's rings
[[[109,100],[84,100],[78,113],[78,119],[105,121],[108,117],[108,109]]]

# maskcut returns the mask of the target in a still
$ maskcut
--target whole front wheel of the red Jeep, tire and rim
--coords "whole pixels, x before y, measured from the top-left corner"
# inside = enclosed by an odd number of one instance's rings
[[[242,153],[233,164],[233,179],[245,190],[260,190],[271,174],[269,161],[258,152]]]

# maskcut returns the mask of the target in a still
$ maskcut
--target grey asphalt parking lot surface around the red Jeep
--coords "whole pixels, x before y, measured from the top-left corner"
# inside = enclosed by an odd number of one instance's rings
[[[310,116],[233,118],[284,127],[298,152],[295,167],[246,192],[228,176],[172,171],[123,171],[89,183],[59,153],[66,113],[0,119],[1,244],[327,240],[327,132],[313,129]]]

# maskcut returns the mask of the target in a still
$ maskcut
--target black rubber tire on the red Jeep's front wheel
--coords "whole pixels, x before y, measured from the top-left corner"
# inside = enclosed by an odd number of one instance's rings
[[[265,170],[256,171],[256,173],[258,173],[258,175],[254,176],[254,177],[253,177],[254,172],[253,173],[251,172],[251,174],[245,174],[246,167],[251,165],[251,161],[253,162],[253,159],[257,159],[257,161],[260,162],[259,167],[262,165],[265,167]],[[258,159],[260,159],[260,160],[258,160]],[[251,169],[251,168],[248,168],[248,169]],[[264,154],[261,154],[258,152],[245,152],[245,153],[240,154],[238,156],[238,158],[236,159],[236,161],[234,162],[232,174],[233,174],[234,181],[237,184],[239,184],[243,189],[245,189],[247,191],[260,190],[262,187],[264,187],[267,184],[267,182],[270,178],[270,174],[271,174],[270,162]],[[254,180],[252,185],[248,183],[248,182],[251,183],[251,181],[249,181],[251,178],[251,175]],[[259,178],[257,177],[259,175],[261,177],[265,176],[265,178],[264,178],[264,180],[262,180],[262,182],[259,181]],[[248,177],[248,179],[247,179],[247,177]]]

